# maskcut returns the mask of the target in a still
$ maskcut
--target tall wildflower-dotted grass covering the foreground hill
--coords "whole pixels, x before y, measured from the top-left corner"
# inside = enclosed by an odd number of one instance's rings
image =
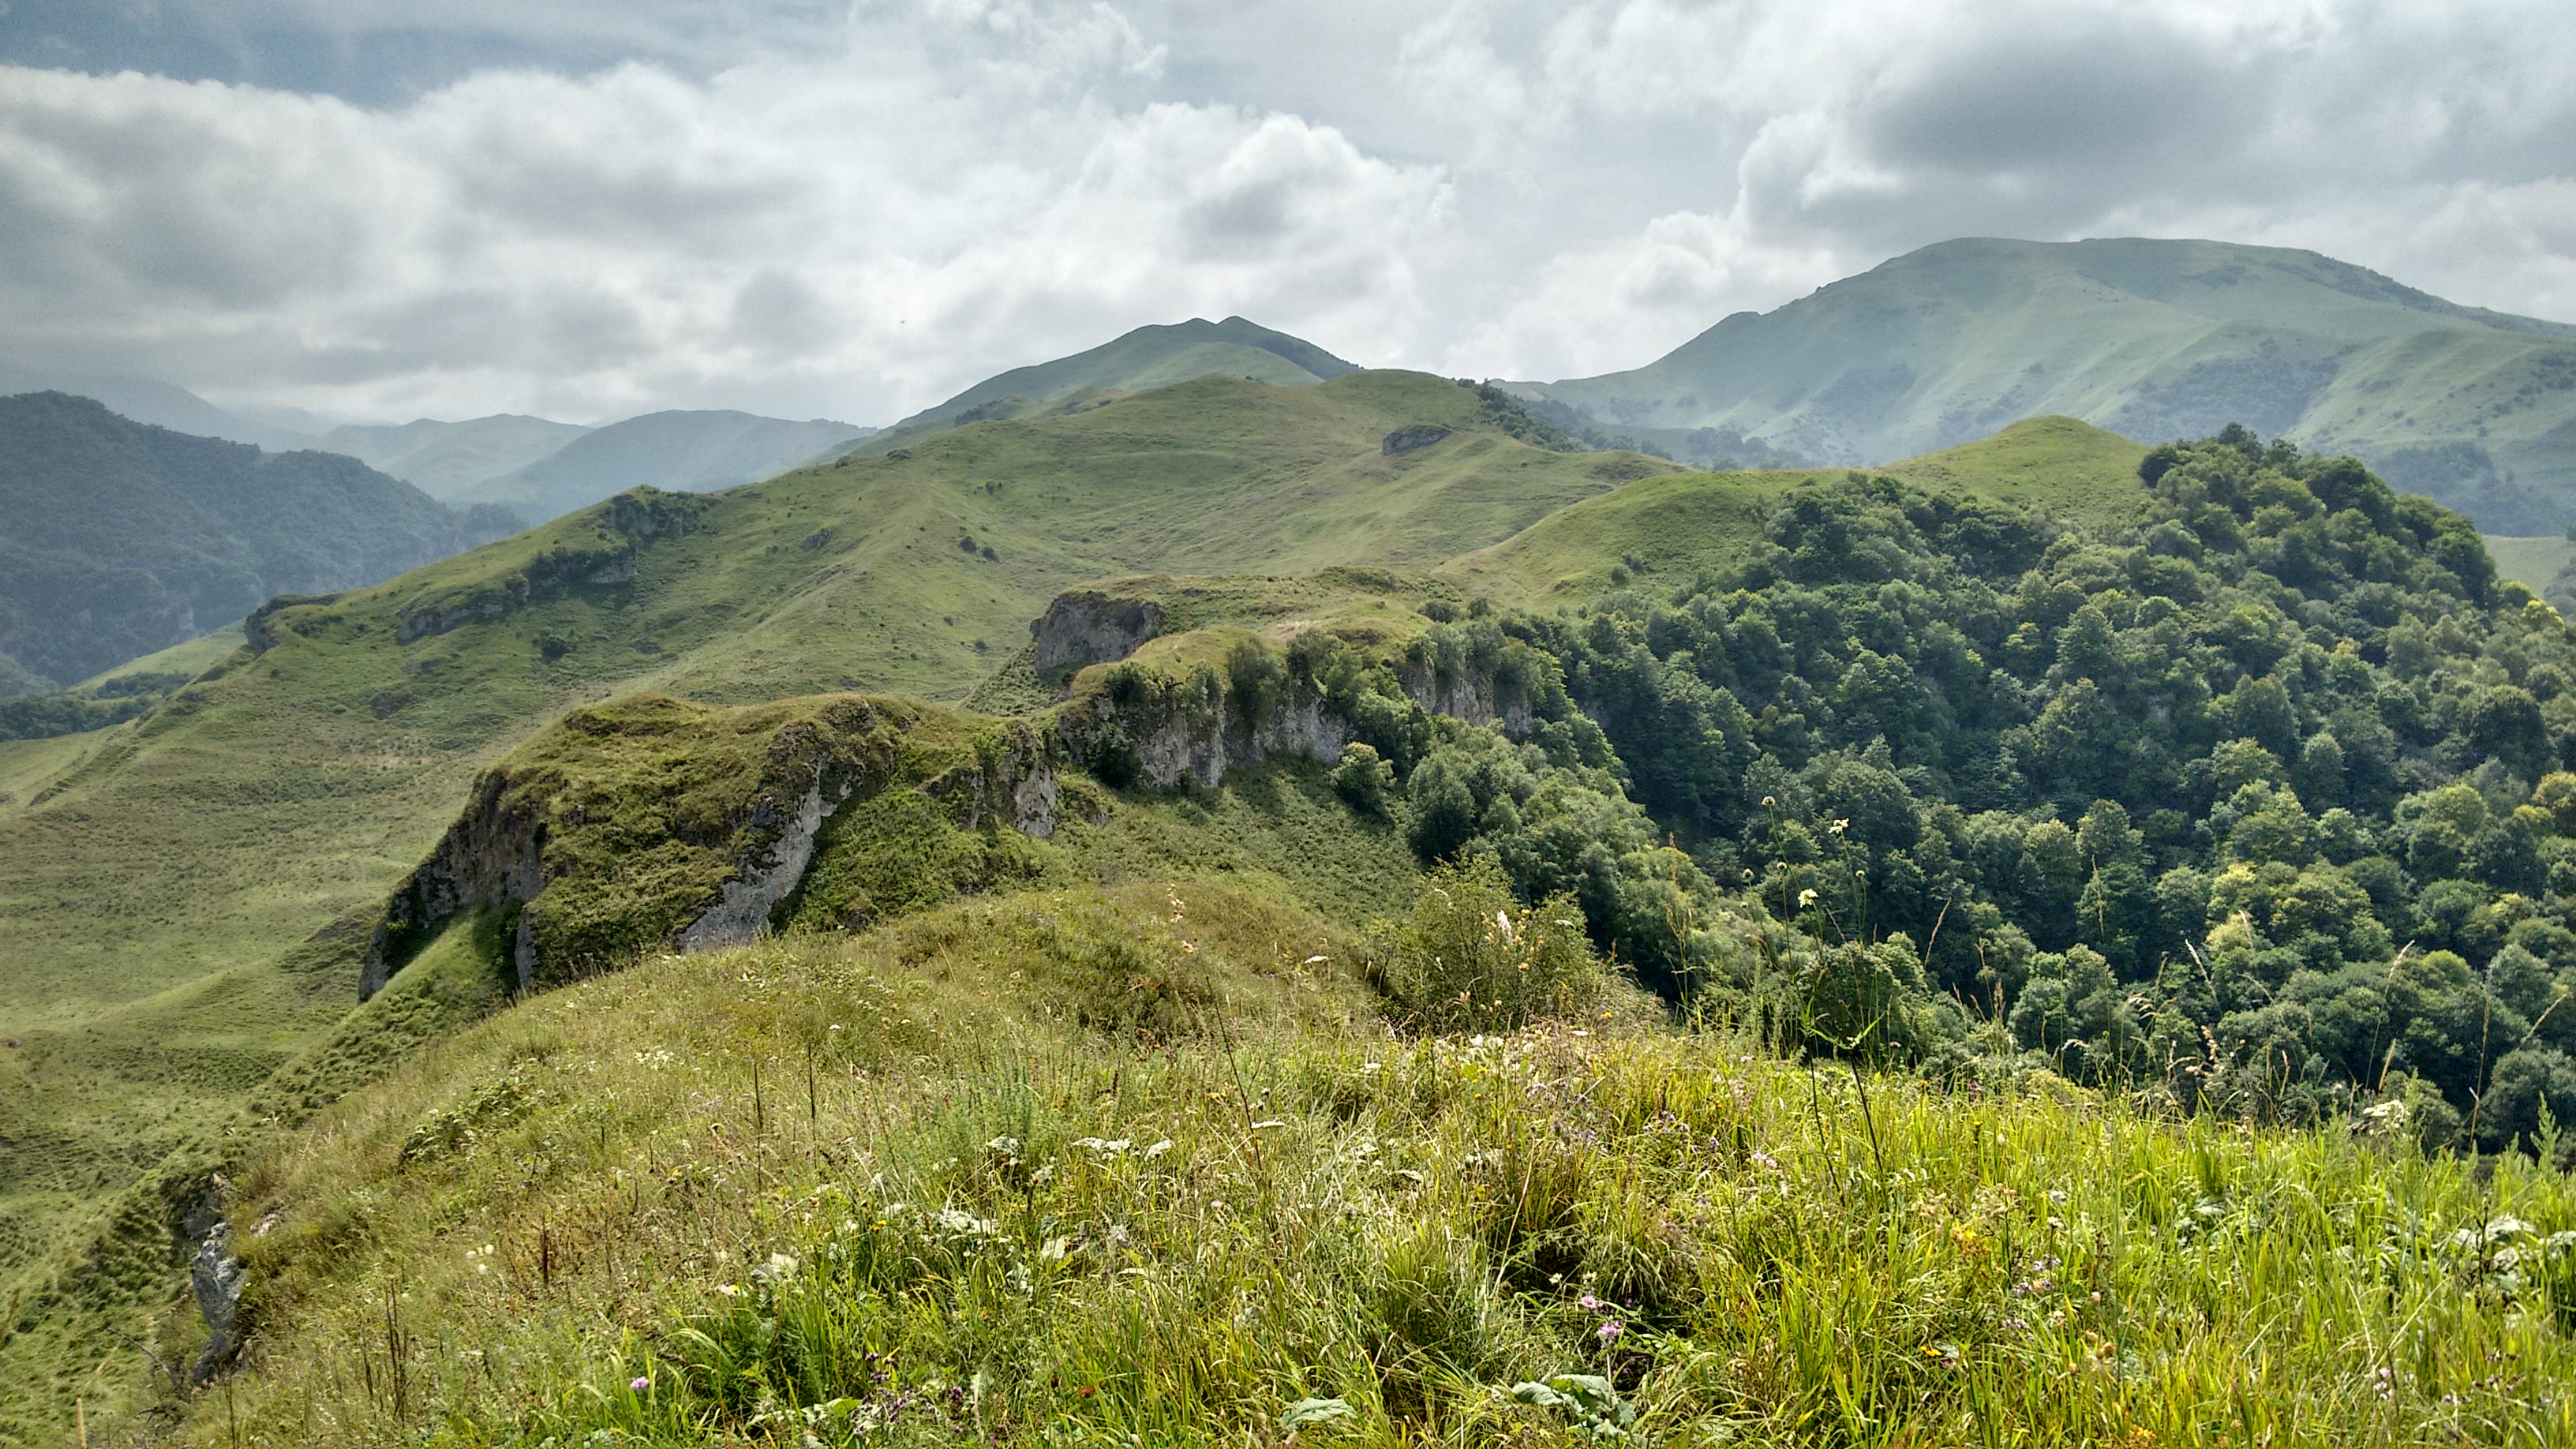
[[[1646,1444],[2576,1441],[2519,1158],[1404,1039],[1350,946],[1126,887],[528,1003],[237,1183],[255,1351],[175,1439],[1553,1444],[1615,1423],[1512,1387],[1597,1374]]]

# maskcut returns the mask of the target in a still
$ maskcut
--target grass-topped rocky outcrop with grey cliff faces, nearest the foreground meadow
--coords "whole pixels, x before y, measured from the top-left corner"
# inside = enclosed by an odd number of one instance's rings
[[[896,699],[716,709],[639,696],[577,709],[474,784],[386,902],[361,995],[482,910],[515,913],[523,990],[639,951],[755,941],[806,879],[824,825],[886,789],[920,789],[969,830],[1046,838],[1056,748],[1025,722]]]

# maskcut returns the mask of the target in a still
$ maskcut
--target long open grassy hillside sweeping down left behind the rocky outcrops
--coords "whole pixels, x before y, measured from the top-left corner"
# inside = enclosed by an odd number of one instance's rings
[[[1383,454],[1422,423],[1453,433]],[[958,699],[1087,578],[1427,567],[1659,467],[1525,446],[1432,376],[1208,376],[907,459],[639,492],[268,611],[265,650],[95,743],[18,750],[0,784],[18,797],[0,807],[0,1034],[26,1042],[0,1096],[18,1142],[0,1266],[337,1021],[355,967],[314,964],[332,923],[374,910],[474,771],[567,706]],[[322,957],[299,957],[317,931]]]

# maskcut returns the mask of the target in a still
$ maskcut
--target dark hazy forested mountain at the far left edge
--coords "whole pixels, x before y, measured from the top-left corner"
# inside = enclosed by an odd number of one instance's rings
[[[348,456],[193,438],[62,392],[0,400],[0,655],[52,681],[515,526]]]

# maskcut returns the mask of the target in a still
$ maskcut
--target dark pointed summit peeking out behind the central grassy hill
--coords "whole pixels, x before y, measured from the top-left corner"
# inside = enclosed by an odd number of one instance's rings
[[[1358,371],[1358,366],[1260,322],[1190,317],[1167,327],[1136,327],[1087,353],[987,376],[948,402],[925,407],[845,451],[881,454],[966,423],[1023,418],[1051,407],[1090,407],[1103,400],[1097,394],[1146,392],[1193,376],[1309,384],[1329,382],[1345,371]]]

